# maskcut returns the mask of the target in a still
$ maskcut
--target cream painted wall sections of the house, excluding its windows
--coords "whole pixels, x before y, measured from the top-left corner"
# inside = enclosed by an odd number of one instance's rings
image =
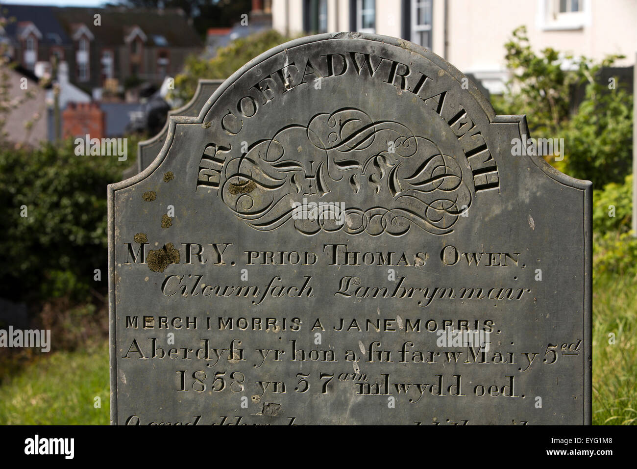
[[[582,0],[581,27],[556,24],[548,13],[553,0],[447,0],[447,59],[459,70],[474,73],[490,91],[501,91],[506,80],[504,45],[513,29],[524,24],[534,50],[553,47],[575,56],[603,59],[607,54],[626,56],[618,66],[635,62],[637,51],[637,0]],[[285,4],[289,20],[285,19]],[[301,33],[303,2],[273,0],[273,26]],[[328,0],[328,31],[348,31],[349,0]],[[376,34],[400,37],[401,0],[376,0]],[[564,29],[567,27],[568,29]],[[445,0],[433,0],[432,50],[445,55]]]

